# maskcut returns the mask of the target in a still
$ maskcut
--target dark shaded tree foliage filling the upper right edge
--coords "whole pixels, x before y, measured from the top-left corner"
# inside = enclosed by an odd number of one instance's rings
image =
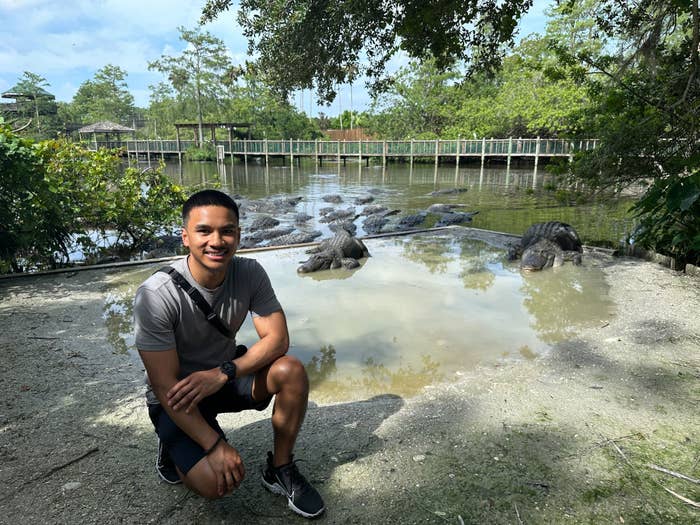
[[[564,6],[566,8],[567,6]],[[600,0],[597,31],[615,46],[558,51],[585,78],[585,125],[600,147],[573,164],[594,188],[648,184],[635,242],[700,262],[700,13],[696,0]],[[573,73],[572,73],[573,72]]]

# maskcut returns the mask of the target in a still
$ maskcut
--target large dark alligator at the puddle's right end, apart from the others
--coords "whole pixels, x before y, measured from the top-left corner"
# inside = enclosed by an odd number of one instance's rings
[[[581,264],[581,239],[564,222],[539,222],[530,226],[517,245],[508,249],[508,259],[520,257],[520,269],[538,271],[561,266],[564,261]]]

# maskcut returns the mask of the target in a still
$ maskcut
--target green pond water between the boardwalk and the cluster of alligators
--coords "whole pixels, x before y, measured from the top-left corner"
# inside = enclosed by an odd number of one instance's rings
[[[464,204],[465,210],[479,211],[471,226],[487,230],[521,235],[530,224],[547,220],[561,220],[573,225],[584,243],[617,244],[631,230],[631,219],[626,211],[629,199],[595,200],[582,205],[562,203],[567,200],[562,191],[555,189],[556,179],[540,166],[534,176],[532,167],[511,169],[478,166],[440,166],[432,164],[390,163],[382,166],[365,166],[351,163],[346,166],[324,163],[316,167],[312,162],[301,166],[282,166],[279,159],[265,167],[249,162],[246,167],[236,161],[228,161],[219,167],[215,163],[168,164],[166,171],[177,181],[188,185],[218,185],[231,194],[249,199],[274,195],[300,195],[304,200],[295,213],[305,212],[315,217],[307,228],[330,235],[327,227],[318,222],[318,210],[328,203],[323,195],[338,193],[345,202],[339,207],[352,205],[355,197],[374,190],[374,204],[402,210],[402,214],[416,213],[434,203]],[[430,192],[448,188],[468,188],[456,195],[429,195]],[[358,211],[361,209],[357,208]],[[292,215],[277,216],[283,223],[291,224]],[[358,235],[363,234],[361,220]],[[436,218],[426,221],[431,226]],[[245,220],[243,226],[245,227]]]

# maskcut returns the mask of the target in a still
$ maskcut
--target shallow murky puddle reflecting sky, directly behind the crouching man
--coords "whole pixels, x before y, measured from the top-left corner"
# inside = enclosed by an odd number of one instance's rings
[[[285,309],[293,355],[316,400],[411,395],[479,363],[533,359],[609,318],[602,273],[591,264],[522,275],[503,250],[459,232],[367,241],[361,268],[298,275],[300,249],[246,254],[266,268]],[[131,300],[153,267],[125,272],[105,320],[116,348],[135,357]],[[250,344],[248,320],[238,341]]]

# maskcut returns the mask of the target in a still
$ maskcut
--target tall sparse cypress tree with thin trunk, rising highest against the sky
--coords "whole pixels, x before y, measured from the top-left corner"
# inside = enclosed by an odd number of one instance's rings
[[[180,40],[187,47],[179,56],[163,55],[149,62],[148,69],[164,73],[181,99],[194,101],[200,145],[204,142],[202,122],[206,106],[217,102],[224,91],[225,74],[231,61],[224,43],[200,27],[193,30],[178,27]]]

